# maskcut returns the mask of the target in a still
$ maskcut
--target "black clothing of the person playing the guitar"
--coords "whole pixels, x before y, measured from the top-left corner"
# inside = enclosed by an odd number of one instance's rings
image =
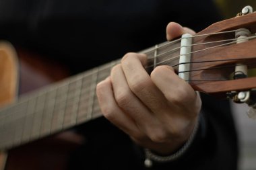
[[[220,20],[205,0],[1,0],[0,37],[86,71],[165,40],[166,24],[199,31]],[[87,138],[70,169],[145,169],[143,150],[104,118],[79,127]],[[189,151],[153,169],[236,169],[237,140],[226,101],[203,95],[203,115]]]

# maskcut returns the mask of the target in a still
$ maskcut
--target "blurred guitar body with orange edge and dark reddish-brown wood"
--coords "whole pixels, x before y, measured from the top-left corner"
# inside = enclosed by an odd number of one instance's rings
[[[7,42],[0,43],[0,105],[15,101],[18,85],[19,93],[22,94],[68,75],[67,69],[62,65],[20,48],[15,50]],[[79,146],[81,141],[80,136],[69,131],[9,151],[1,151],[0,170],[66,169],[70,152]]]

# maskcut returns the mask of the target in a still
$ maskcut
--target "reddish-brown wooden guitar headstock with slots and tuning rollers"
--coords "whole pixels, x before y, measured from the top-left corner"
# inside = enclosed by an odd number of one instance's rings
[[[249,13],[212,24],[196,34],[191,54],[191,86],[243,102],[239,93],[256,89],[255,33],[256,13]]]

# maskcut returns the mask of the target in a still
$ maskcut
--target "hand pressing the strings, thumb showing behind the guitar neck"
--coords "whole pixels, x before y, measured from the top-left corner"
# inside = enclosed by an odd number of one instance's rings
[[[192,30],[170,23],[167,40]],[[145,54],[128,53],[97,85],[102,114],[145,148],[169,155],[189,138],[201,109],[201,99],[169,66],[145,71]]]

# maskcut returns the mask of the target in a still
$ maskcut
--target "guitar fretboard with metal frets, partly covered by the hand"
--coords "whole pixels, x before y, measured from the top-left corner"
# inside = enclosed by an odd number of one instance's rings
[[[148,71],[157,65],[177,65],[179,42],[164,42],[140,53],[148,56]],[[173,58],[172,58],[173,57]],[[98,118],[96,85],[120,60],[32,91],[0,110],[0,151],[38,140]]]

